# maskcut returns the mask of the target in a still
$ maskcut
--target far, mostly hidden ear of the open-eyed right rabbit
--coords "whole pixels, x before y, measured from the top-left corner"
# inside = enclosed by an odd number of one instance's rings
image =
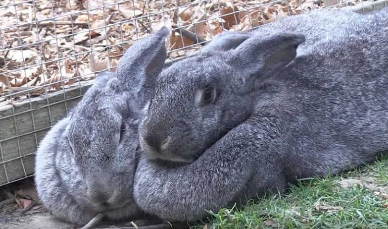
[[[202,48],[202,51],[228,51],[236,48],[251,36],[252,34],[249,33],[225,31],[215,36]]]

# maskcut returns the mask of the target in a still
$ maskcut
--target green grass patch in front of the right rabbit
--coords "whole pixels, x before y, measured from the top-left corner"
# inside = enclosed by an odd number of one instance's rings
[[[388,228],[388,195],[381,195],[388,193],[387,156],[341,176],[299,181],[289,191],[210,212],[205,228]]]

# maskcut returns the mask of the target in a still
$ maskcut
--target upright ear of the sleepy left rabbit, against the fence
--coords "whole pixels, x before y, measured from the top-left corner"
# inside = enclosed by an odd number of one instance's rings
[[[136,93],[137,98],[149,99],[154,90],[156,78],[166,60],[165,39],[170,33],[162,27],[140,41],[135,42],[124,53],[117,67],[116,76],[127,90]]]

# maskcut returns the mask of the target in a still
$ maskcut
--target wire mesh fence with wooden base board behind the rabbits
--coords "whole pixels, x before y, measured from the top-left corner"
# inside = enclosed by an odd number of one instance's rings
[[[95,73],[115,71],[136,40],[172,29],[168,61],[224,30],[249,30],[321,8],[384,7],[386,0],[1,0],[0,186],[34,173],[44,134],[82,97]],[[379,5],[378,5],[378,4]],[[369,5],[368,5],[369,4]]]

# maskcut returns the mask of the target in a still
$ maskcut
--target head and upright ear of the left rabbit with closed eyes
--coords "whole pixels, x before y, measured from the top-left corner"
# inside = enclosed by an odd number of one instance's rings
[[[163,69],[168,33],[163,27],[134,43],[116,73],[97,77],[70,117],[63,141],[85,181],[74,197],[91,209],[119,208],[132,200],[138,121]]]

